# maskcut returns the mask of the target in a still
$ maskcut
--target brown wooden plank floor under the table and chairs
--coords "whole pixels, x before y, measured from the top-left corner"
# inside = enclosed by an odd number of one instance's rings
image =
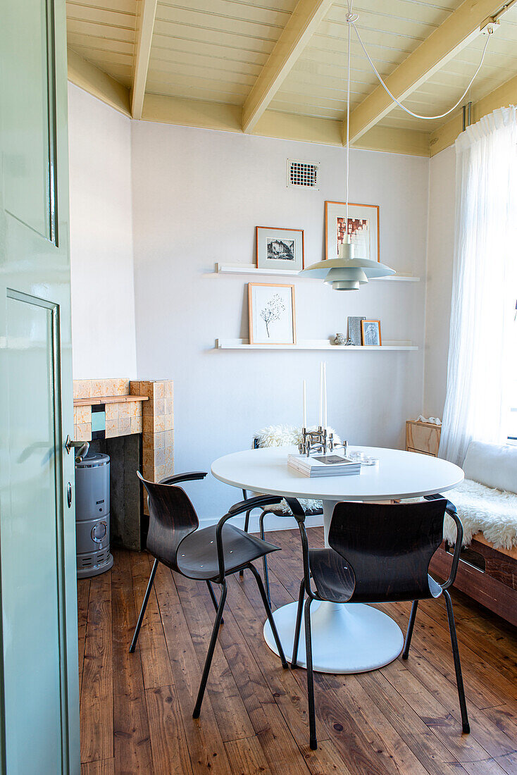
[[[322,546],[321,528],[308,533]],[[270,557],[275,608],[298,597],[300,544],[296,530],[267,537],[282,549]],[[471,734],[461,734],[445,608],[423,601],[407,661],[315,673],[311,751],[306,673],[283,670],[267,648],[252,574],[229,579],[194,720],[215,615],[207,587],[160,565],[129,654],[152,558],[114,554],[112,570],[78,581],[81,775],[517,775],[515,629],[464,594],[453,591],[453,605]],[[405,630],[409,607],[382,608]]]

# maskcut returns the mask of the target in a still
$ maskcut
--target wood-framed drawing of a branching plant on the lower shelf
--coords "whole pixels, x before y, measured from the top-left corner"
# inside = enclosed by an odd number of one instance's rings
[[[248,283],[250,344],[296,344],[295,286]]]

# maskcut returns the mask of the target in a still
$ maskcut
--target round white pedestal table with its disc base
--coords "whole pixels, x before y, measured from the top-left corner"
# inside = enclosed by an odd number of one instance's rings
[[[457,487],[463,471],[429,455],[399,449],[350,447],[377,458],[378,465],[361,467],[357,476],[310,478],[288,467],[288,453],[295,447],[247,449],[220,457],[212,474],[226,484],[258,493],[315,498],[323,501],[325,545],[329,546],[330,520],[339,501],[391,501],[443,493]],[[300,568],[300,578],[302,578]],[[288,660],[292,656],[297,603],[274,611],[278,633]],[[317,608],[316,608],[317,607]],[[312,606],[312,657],[321,673],[362,673],[392,662],[402,651],[404,636],[382,611],[362,603],[315,602]],[[302,624],[302,633],[303,624]],[[277,653],[271,627],[264,625],[267,645]],[[300,638],[298,664],[305,667],[305,642]]]

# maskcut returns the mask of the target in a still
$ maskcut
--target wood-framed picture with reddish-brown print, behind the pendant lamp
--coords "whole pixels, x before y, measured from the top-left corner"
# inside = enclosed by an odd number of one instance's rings
[[[325,257],[338,258],[339,245],[346,234],[355,245],[356,258],[380,261],[379,205],[348,205],[346,202],[325,202]]]

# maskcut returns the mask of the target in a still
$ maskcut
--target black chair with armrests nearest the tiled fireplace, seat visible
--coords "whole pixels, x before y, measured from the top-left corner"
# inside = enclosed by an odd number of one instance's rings
[[[136,622],[135,634],[133,635],[131,646],[129,646],[129,652],[133,653],[136,649],[136,641],[142,625],[143,615],[146,611],[147,601],[149,601],[150,591],[153,587],[158,563],[164,563],[168,568],[177,571],[178,574],[187,578],[206,581],[217,613],[199,686],[198,699],[192,713],[194,718],[198,718],[201,712],[206,682],[209,677],[219,625],[222,624],[222,611],[225,606],[227,593],[227,576],[235,574],[241,569],[248,568],[251,570],[257,580],[260,596],[264,603],[271,630],[273,631],[278,653],[280,654],[282,667],[288,667],[277,628],[274,624],[274,618],[271,614],[271,607],[267,602],[264,585],[257,569],[252,564],[253,560],[258,560],[270,552],[276,552],[279,547],[274,546],[272,543],[261,541],[254,536],[249,536],[234,525],[225,524],[229,518],[242,514],[247,508],[250,508],[251,501],[237,503],[229,509],[229,512],[224,517],[219,519],[217,525],[211,525],[208,528],[198,530],[199,521],[195,508],[185,491],[177,485],[184,481],[204,479],[206,474],[201,472],[178,474],[174,477],[162,479],[160,483],[155,483],[146,481],[139,471],[136,473],[147,491],[150,516],[146,548],[155,559],[138,622]],[[253,498],[253,501],[255,501],[253,503],[254,506],[264,508],[269,503],[281,501],[281,498],[275,498],[273,495],[263,495],[260,498]],[[219,603],[215,598],[212,582],[221,586]]]

